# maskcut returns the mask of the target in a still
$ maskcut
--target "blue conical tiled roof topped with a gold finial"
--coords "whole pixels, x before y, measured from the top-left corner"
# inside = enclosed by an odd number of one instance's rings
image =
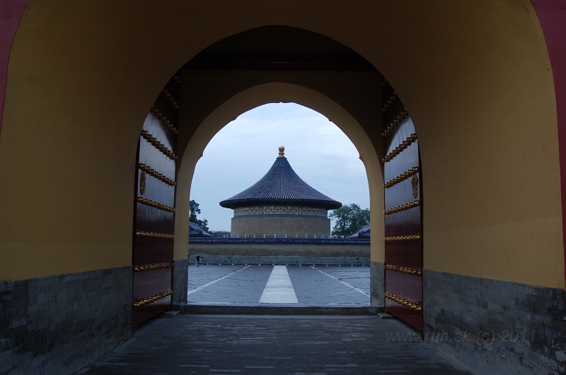
[[[283,146],[279,147],[279,157],[275,159],[271,169],[260,181],[232,198],[220,202],[225,208],[267,205],[297,205],[334,210],[342,207],[342,203],[328,198],[297,176],[287,157],[284,157]]]

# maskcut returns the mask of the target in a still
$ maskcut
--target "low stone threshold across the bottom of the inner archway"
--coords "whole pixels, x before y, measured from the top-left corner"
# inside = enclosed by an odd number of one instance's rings
[[[182,314],[375,315],[376,306],[289,304],[185,304]]]

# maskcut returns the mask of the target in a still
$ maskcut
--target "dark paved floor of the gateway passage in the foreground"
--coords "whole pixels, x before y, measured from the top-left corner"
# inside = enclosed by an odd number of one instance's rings
[[[89,375],[468,374],[378,316],[179,314],[142,324]]]

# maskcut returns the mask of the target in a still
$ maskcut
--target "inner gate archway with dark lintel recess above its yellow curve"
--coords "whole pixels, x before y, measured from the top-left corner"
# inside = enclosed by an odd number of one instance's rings
[[[274,47],[274,40],[281,43]],[[313,53],[308,52],[310,48]],[[239,54],[240,50],[245,53]],[[188,254],[190,201],[190,183],[186,184],[186,179],[192,179],[202,150],[222,126],[239,114],[269,102],[296,102],[339,124],[364,162],[369,190],[375,192],[370,193],[371,222],[379,228],[374,230],[371,243],[371,302],[383,306],[383,217],[378,214],[383,211],[383,203],[378,203],[383,202],[383,173],[378,156],[383,152],[379,71],[329,37],[298,28],[269,26],[213,44],[175,76],[181,93],[177,126],[181,162],[175,195],[175,217],[180,220],[175,222],[173,301],[186,301],[184,263]],[[185,160],[190,161],[188,166]],[[187,170],[189,175],[185,176]]]

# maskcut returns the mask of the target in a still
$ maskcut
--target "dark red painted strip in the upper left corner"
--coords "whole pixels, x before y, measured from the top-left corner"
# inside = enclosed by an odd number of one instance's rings
[[[13,38],[26,6],[28,0],[0,0],[0,134],[4,118],[4,100],[6,100],[8,60]]]

